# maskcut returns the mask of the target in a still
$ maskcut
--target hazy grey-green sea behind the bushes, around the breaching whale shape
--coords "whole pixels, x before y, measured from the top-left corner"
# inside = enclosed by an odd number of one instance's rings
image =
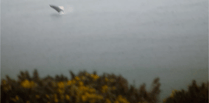
[[[160,77],[165,98],[208,79],[208,1],[2,0],[1,77],[34,68],[121,74],[147,89]]]

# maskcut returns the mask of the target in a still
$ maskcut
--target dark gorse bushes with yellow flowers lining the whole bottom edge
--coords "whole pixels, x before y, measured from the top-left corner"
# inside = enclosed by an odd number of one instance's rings
[[[159,103],[159,78],[154,79],[147,91],[145,84],[136,88],[129,85],[121,75],[81,71],[71,79],[63,75],[40,78],[37,70],[33,76],[27,71],[20,72],[18,80],[9,76],[1,82],[1,103]],[[164,103],[207,103],[208,84],[197,86],[196,82],[188,91],[174,91]]]

